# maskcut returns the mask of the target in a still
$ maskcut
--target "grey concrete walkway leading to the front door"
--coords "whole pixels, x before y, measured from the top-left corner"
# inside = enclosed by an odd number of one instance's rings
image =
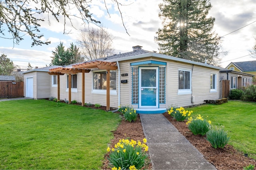
[[[153,169],[216,169],[162,114],[140,114]]]

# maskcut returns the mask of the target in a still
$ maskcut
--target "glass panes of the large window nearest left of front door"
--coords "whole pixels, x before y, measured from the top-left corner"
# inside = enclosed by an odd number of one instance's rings
[[[107,74],[106,71],[93,73],[93,89],[106,90],[107,89]],[[110,70],[110,90],[116,90],[116,70]]]

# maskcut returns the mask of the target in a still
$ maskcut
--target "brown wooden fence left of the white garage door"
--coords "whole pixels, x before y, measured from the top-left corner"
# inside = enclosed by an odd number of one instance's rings
[[[24,97],[24,84],[20,82],[0,81],[0,99]]]

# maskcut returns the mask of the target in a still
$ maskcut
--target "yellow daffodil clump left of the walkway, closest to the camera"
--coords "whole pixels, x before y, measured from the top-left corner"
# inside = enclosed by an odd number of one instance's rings
[[[146,145],[146,138],[143,139],[143,143],[140,140],[119,140],[115,144],[115,148],[107,148],[109,154],[109,164],[112,169],[141,169],[145,160],[148,157],[146,151],[148,151],[148,146]],[[119,168],[119,169],[120,169]]]

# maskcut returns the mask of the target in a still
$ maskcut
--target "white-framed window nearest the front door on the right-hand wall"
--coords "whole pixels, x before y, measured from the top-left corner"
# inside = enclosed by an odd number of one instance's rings
[[[191,94],[191,70],[179,69],[178,95]]]

